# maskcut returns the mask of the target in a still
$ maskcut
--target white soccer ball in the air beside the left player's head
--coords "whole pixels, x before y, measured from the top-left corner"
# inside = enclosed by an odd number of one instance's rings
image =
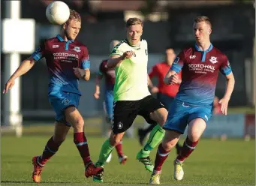
[[[55,25],[63,25],[68,21],[70,16],[69,7],[65,2],[53,1],[47,7],[46,11],[47,20]]]

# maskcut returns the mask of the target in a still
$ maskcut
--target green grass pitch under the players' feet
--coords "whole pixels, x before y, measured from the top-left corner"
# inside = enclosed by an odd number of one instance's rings
[[[2,185],[35,185],[32,182],[32,156],[41,154],[50,135],[33,135],[16,138],[2,136]],[[104,138],[88,136],[92,160],[97,160]],[[150,173],[136,160],[140,145],[137,139],[124,139],[124,151],[128,155],[127,163],[118,163],[116,151],[113,159],[107,163],[104,171],[104,185],[148,184]],[[161,184],[175,185],[255,185],[254,140],[242,139],[202,139],[191,157],[185,161],[185,177],[182,181],[173,179],[173,159],[175,151],[170,153],[164,163]],[[155,150],[151,154],[155,158]],[[45,166],[40,185],[100,185],[92,178],[85,178],[83,163],[73,143],[68,138],[58,153]]]

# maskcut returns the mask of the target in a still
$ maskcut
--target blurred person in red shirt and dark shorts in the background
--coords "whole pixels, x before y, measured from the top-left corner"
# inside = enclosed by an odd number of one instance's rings
[[[174,49],[171,47],[167,47],[165,50],[165,61],[158,63],[157,65],[152,67],[152,71],[149,73],[149,88],[152,94],[157,94],[157,98],[164,104],[164,107],[169,110],[169,106],[172,103],[173,99],[176,96],[176,93],[179,91],[179,84],[181,83],[181,72],[176,76],[176,84],[173,85],[166,85],[164,83],[164,76],[169,71],[171,65],[173,65],[173,61],[176,58],[176,54]],[[158,86],[154,86],[152,84],[152,78],[158,78]],[[148,133],[155,127],[155,125],[151,124],[149,127],[145,129],[139,128],[138,129],[138,136],[140,139],[140,145],[143,145],[143,140],[147,136]],[[176,151],[179,154],[180,145],[177,142],[176,144]]]

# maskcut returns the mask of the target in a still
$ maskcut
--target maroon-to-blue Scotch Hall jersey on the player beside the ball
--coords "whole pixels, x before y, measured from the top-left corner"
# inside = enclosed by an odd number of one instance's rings
[[[74,92],[78,89],[78,79],[74,68],[90,68],[88,49],[77,40],[65,41],[60,35],[45,40],[32,54],[35,60],[45,58],[49,72],[48,92]]]

